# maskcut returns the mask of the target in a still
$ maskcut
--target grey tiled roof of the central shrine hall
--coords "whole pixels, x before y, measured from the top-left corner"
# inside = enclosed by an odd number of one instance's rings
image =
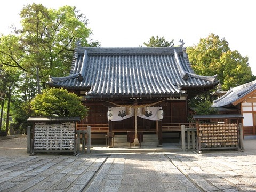
[[[212,89],[217,76],[196,75],[183,47],[77,47],[70,74],[50,77],[53,87],[93,97],[191,97]]]

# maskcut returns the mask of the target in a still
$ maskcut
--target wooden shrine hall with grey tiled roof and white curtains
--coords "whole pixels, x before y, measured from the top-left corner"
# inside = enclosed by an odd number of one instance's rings
[[[78,46],[70,74],[48,84],[81,96],[89,115],[77,129],[90,125],[92,141],[113,133],[115,142],[124,135],[123,142],[141,143],[151,135],[161,146],[179,139],[181,124],[188,124],[188,99],[218,83],[217,76],[194,73],[185,47]]]

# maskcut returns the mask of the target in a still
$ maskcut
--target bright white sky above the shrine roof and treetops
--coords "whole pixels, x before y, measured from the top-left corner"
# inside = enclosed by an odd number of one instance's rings
[[[225,38],[231,50],[248,56],[256,75],[256,11],[251,0],[9,0],[1,2],[0,33],[10,33],[12,24],[18,26],[23,5],[32,3],[53,9],[76,6],[102,47],[138,47],[157,35],[174,39],[175,45],[183,39],[185,46],[192,46],[213,33]]]

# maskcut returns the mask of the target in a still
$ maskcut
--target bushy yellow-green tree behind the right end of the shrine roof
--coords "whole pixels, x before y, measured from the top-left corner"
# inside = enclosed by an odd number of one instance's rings
[[[187,47],[187,53],[195,73],[205,76],[218,74],[224,90],[254,78],[248,57],[242,57],[237,50],[231,51],[226,39],[217,35],[201,38],[197,45]]]

